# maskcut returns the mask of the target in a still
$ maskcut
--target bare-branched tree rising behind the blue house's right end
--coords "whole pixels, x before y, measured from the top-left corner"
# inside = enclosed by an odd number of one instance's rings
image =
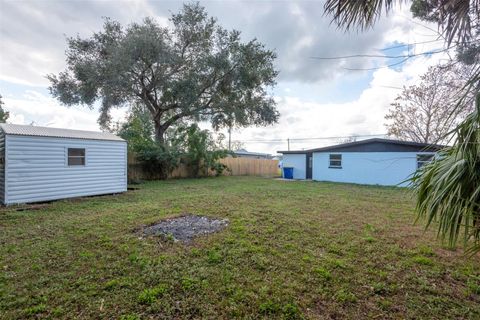
[[[385,116],[388,134],[400,140],[442,143],[474,110],[473,96],[461,108],[456,100],[471,68],[463,65],[430,67],[418,85],[404,87]]]

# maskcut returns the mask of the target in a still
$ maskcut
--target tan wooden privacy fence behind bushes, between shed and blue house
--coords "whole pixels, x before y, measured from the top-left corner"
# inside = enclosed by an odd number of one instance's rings
[[[250,158],[224,158],[219,162],[226,165],[229,170],[224,175],[231,176],[265,176],[276,177],[280,175],[278,160],[250,159]],[[213,175],[213,173],[212,173]],[[170,173],[169,178],[189,178],[192,172],[185,164],[180,164]],[[128,179],[132,180],[156,180],[159,176],[144,172],[142,164],[136,160],[135,155],[128,154]]]

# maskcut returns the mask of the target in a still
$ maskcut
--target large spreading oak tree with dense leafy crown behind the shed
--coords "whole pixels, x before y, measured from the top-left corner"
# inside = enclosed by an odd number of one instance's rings
[[[124,28],[106,19],[91,37],[68,38],[66,70],[48,76],[52,95],[66,105],[99,101],[103,127],[112,108],[142,103],[160,143],[178,121],[207,120],[218,129],[278,120],[268,92],[278,74],[274,52],[242,42],[199,4],[184,5],[170,23],[147,18]]]

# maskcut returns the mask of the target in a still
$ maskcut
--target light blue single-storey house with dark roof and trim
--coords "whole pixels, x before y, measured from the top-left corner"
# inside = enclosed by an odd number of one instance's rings
[[[294,179],[405,186],[417,168],[444,146],[368,139],[301,151],[279,151]]]

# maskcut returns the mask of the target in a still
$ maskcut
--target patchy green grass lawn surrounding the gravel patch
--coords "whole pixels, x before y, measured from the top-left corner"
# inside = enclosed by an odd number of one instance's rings
[[[480,318],[480,258],[405,189],[222,177],[0,211],[0,318]],[[138,228],[228,218],[191,245]]]

